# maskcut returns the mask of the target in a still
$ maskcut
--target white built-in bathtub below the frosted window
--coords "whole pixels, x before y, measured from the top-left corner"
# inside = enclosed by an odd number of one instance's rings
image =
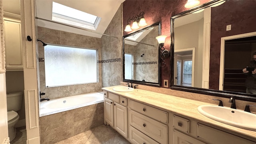
[[[92,104],[98,104],[104,101],[104,95],[100,92],[92,92],[88,94],[80,94],[77,96],[69,96],[66,98],[56,98],[44,100],[40,102],[40,116],[47,116],[64,112],[75,108],[81,108]]]

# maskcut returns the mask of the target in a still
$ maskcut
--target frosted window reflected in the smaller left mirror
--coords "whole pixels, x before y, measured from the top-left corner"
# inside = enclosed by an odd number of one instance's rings
[[[126,80],[133,79],[133,55],[132,54],[124,54],[124,76]]]

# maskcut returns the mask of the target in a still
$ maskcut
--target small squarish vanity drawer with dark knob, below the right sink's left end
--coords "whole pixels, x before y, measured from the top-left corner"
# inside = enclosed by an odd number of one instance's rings
[[[173,115],[172,126],[182,132],[189,133],[190,121],[186,118]]]

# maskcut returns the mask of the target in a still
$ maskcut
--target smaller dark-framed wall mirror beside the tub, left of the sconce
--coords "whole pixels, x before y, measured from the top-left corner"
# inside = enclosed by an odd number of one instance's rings
[[[160,22],[123,36],[124,82],[160,86]]]

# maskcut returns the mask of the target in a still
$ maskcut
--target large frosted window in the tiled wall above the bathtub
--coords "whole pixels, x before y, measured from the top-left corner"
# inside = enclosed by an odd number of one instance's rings
[[[98,82],[97,50],[44,46],[46,87]]]

